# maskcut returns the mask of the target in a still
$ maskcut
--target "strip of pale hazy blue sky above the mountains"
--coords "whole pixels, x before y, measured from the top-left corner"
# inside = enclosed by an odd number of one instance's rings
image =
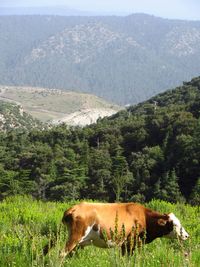
[[[0,0],[0,6],[67,6],[84,11],[147,13],[200,20],[200,0]]]

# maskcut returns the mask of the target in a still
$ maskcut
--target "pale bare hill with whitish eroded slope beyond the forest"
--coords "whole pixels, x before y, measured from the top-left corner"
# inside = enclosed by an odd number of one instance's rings
[[[36,87],[0,86],[0,100],[20,105],[34,118],[55,124],[83,126],[120,110],[91,94]]]

